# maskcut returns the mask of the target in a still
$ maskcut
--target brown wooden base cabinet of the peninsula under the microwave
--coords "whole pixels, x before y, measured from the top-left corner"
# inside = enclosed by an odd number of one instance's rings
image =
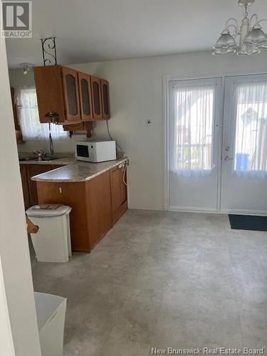
[[[127,210],[126,186],[118,187],[122,183],[122,169],[110,169],[87,182],[36,182],[38,202],[70,206],[72,249],[90,252]]]

